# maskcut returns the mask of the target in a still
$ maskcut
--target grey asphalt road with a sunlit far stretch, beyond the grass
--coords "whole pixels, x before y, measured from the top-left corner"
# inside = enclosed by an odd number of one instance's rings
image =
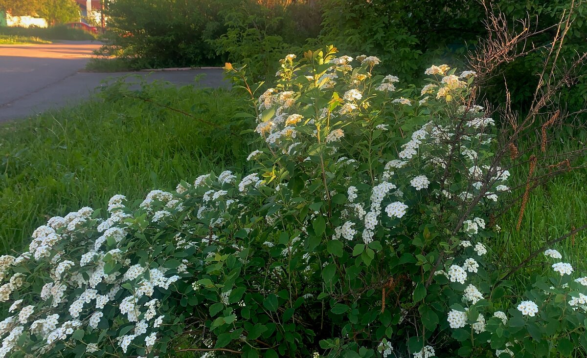
[[[50,108],[75,104],[90,96],[110,77],[129,73],[84,73],[96,42],[63,42],[48,45],[0,45],[0,122],[23,118]],[[200,86],[222,86],[222,70],[132,72],[149,81],[166,80],[193,84],[205,74]],[[137,81],[137,79],[129,79]]]

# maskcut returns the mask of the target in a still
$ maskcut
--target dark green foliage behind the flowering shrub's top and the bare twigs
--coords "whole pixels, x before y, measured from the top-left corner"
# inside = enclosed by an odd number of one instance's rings
[[[529,30],[549,30],[532,37],[534,46],[551,42],[555,26],[564,11],[573,4],[573,29],[566,34],[561,56],[576,57],[587,50],[587,4],[566,0],[492,2],[488,11],[502,12],[510,29],[521,31],[522,19],[529,18]],[[382,59],[388,73],[402,73],[420,79],[418,69],[432,63],[448,63],[467,67],[462,59],[473,50],[479,38],[487,35],[484,21],[486,10],[477,1],[385,1],[385,0],[325,0],[323,2],[321,43],[333,43],[351,55],[369,53]],[[538,19],[538,22],[536,22]],[[548,54],[549,47],[502,66],[498,80],[487,86],[486,94],[493,103],[505,98],[503,77],[507,80],[515,108],[524,110],[531,101],[537,84],[535,69]],[[585,69],[579,69],[585,74]],[[587,100],[587,83],[581,76],[579,84],[569,91],[561,88],[559,101],[575,111]]]

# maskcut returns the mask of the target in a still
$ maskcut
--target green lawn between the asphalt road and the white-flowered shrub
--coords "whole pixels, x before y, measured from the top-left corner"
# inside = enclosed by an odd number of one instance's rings
[[[140,96],[227,129],[121,98],[116,88],[103,94],[106,101],[3,125],[0,252],[28,243],[49,217],[82,206],[106,207],[114,194],[137,200],[151,189],[173,190],[180,180],[211,170],[242,170],[249,138],[238,135],[246,124],[231,119],[245,110],[236,94],[154,85]]]

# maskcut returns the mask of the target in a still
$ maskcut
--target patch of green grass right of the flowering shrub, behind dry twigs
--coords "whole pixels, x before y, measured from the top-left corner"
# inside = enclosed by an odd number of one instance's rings
[[[549,144],[549,150],[544,154],[554,155],[556,153],[569,152],[586,148],[586,134],[579,132],[575,137],[571,134],[560,135]],[[562,139],[562,142],[561,142]],[[539,142],[538,138],[527,137],[525,142],[519,143],[520,149],[527,148],[532,143]],[[539,157],[540,158],[540,157]],[[548,170],[545,164],[552,164],[566,158],[562,156],[551,162],[537,166],[536,175],[541,175]],[[521,158],[527,160],[528,158]],[[541,161],[539,160],[539,163]],[[572,166],[587,165],[587,151],[583,152],[571,162]],[[518,166],[510,171],[510,186],[525,183],[528,176],[528,165]],[[522,224],[516,230],[520,203],[515,204],[508,210],[498,223],[502,228],[502,234],[494,243],[494,250],[500,255],[501,262],[508,265],[517,265],[528,257],[529,253],[538,250],[545,245],[546,241],[554,240],[571,231],[572,227],[580,227],[587,224],[587,170],[575,169],[565,172],[535,188],[529,195]],[[518,197],[524,193],[524,187],[514,190],[512,197]],[[570,262],[576,271],[587,273],[587,262],[584,258],[587,255],[587,230],[576,234],[575,240],[568,238],[555,244],[553,247],[563,255],[561,261]],[[528,284],[529,276],[544,271],[552,270],[550,265],[554,261],[546,260],[544,255],[539,254],[537,258],[529,262],[531,267],[518,275],[518,285],[525,287]]]

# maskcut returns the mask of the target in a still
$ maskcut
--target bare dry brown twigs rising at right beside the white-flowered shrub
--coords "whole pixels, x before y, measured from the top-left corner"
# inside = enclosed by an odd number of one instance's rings
[[[473,84],[473,94],[468,99],[465,106],[467,107],[467,110],[472,103],[475,103],[477,97],[480,95],[479,90],[481,86],[495,77],[495,72],[500,69],[501,64],[509,63],[518,57],[527,55],[528,53],[547,48],[546,45],[535,46],[534,43],[532,43],[532,37],[549,30],[555,30],[555,35],[552,42],[549,44],[548,56],[545,57],[542,70],[538,74],[538,84],[534,90],[532,103],[527,114],[523,117],[520,117],[517,112],[512,110],[511,94],[507,88],[507,83],[505,83],[505,105],[504,109],[500,111],[502,123],[509,125],[502,129],[502,138],[505,138],[505,141],[494,155],[494,160],[484,178],[480,193],[461,211],[460,220],[458,220],[454,227],[453,234],[456,234],[461,229],[464,221],[472,212],[473,208],[485,196],[488,188],[492,185],[492,180],[494,180],[492,178],[495,178],[495,175],[500,172],[500,164],[504,159],[510,157],[510,159],[513,160],[521,158],[524,154],[529,155],[527,151],[521,152],[521,148],[515,144],[517,138],[528,135],[529,132],[534,130],[534,124],[539,118],[548,116],[546,118],[549,118],[549,120],[546,121],[541,128],[543,135],[540,147],[544,148],[544,152],[546,149],[546,128],[554,125],[557,120],[562,121],[562,118],[571,117],[572,115],[577,115],[579,113],[562,114],[561,108],[552,109],[552,107],[555,107],[555,96],[558,91],[561,87],[568,86],[574,82],[573,78],[576,76],[576,71],[581,68],[587,59],[587,53],[583,53],[579,54],[578,57],[569,64],[564,63],[566,67],[559,66],[564,39],[572,24],[573,9],[575,8],[574,0],[571,2],[568,11],[565,11],[562,14],[561,21],[556,25],[546,29],[530,30],[531,26],[529,26],[529,24],[531,21],[527,18],[518,22],[518,24],[521,25],[521,30],[518,32],[515,31],[515,26],[512,29],[510,28],[502,13],[497,13],[496,15],[494,9],[491,8],[491,5],[488,6],[485,3],[483,4],[487,13],[486,26],[488,35],[486,39],[481,40],[481,46],[477,51],[470,54],[470,67],[477,73],[477,78]],[[465,112],[467,110],[465,110]],[[458,137],[458,125],[456,132],[456,137]],[[452,156],[453,151],[448,154],[448,163],[453,159]],[[522,200],[522,206],[518,217],[518,227],[524,213],[525,204],[528,202],[529,193],[534,187],[536,187],[536,185],[531,186],[530,183],[534,181],[532,176],[534,175],[535,170],[539,167],[538,158],[536,156],[531,156],[530,162],[530,171],[525,185],[526,190],[524,195],[517,199]],[[568,163],[566,164],[568,165],[567,168],[571,168],[570,161],[563,162]],[[545,168],[549,168],[550,170],[552,168],[560,168],[564,163],[558,163],[554,166],[545,165]],[[544,178],[548,179],[551,178],[551,176],[544,176]],[[441,253],[433,265],[429,278],[426,281],[426,286],[430,285],[433,273],[437,270],[437,267],[440,265],[443,258],[444,253]]]

